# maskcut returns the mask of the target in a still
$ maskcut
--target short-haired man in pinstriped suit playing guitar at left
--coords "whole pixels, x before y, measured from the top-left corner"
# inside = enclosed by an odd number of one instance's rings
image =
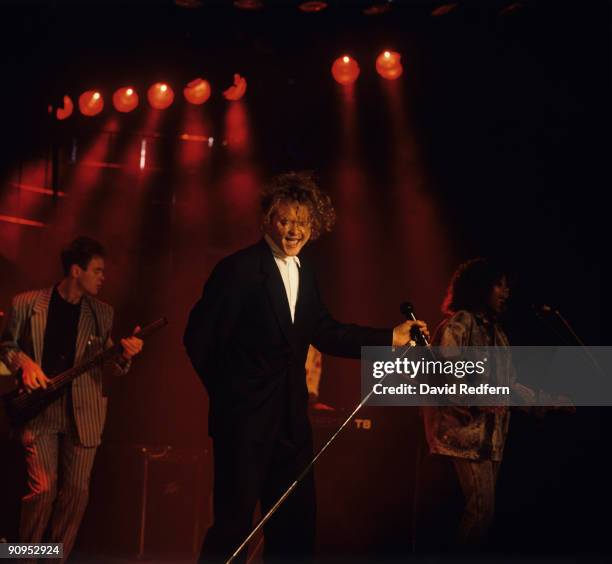
[[[61,253],[64,278],[58,284],[13,299],[0,361],[13,372],[21,369],[27,390],[46,389],[51,375],[112,346],[113,308],[94,297],[104,282],[104,256],[100,243],[79,237]],[[123,354],[113,370],[126,373],[142,344],[137,337],[122,339]],[[68,558],[87,506],[106,402],[102,367],[92,368],[19,429],[28,472],[21,542],[42,542],[48,528],[45,540],[63,543]]]

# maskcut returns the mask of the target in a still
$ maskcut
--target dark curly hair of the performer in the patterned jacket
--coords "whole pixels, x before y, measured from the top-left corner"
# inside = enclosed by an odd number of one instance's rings
[[[482,309],[493,286],[504,276],[509,276],[508,271],[490,259],[478,257],[464,262],[451,277],[442,313],[452,315],[461,309]]]

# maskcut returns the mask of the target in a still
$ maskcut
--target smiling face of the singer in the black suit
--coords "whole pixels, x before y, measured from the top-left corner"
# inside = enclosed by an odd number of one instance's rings
[[[310,239],[310,210],[297,202],[280,202],[265,223],[264,231],[281,251],[295,257]]]

